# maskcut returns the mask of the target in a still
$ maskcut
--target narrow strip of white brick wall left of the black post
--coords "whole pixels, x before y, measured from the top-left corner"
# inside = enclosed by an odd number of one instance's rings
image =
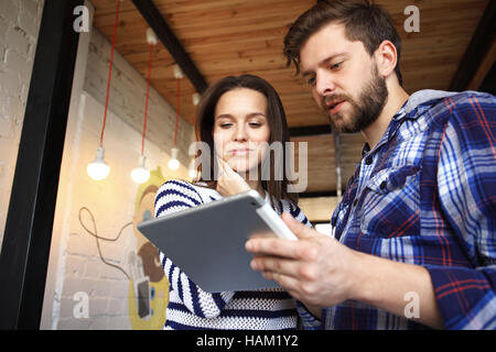
[[[0,245],[42,11],[43,0],[0,1]]]

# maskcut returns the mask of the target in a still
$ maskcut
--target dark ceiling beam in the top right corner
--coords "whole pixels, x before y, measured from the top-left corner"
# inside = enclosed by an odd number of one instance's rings
[[[477,68],[488,54],[495,38],[496,1],[489,1],[478,21],[465,54],[460,61],[459,68],[453,76],[449,89],[454,91],[467,89]]]

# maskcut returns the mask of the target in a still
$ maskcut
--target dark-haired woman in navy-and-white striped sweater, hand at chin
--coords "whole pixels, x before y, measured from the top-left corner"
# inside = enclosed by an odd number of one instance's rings
[[[197,140],[209,146],[209,167],[202,169],[198,183],[170,180],[162,185],[155,197],[155,217],[252,188],[279,215],[290,212],[310,227],[294,205],[294,195],[288,193],[288,175],[279,180],[261,177],[262,162],[270,157],[268,145],[289,142],[281,101],[266,80],[244,75],[211,86],[198,106],[195,127]],[[280,288],[209,294],[163,253],[161,261],[170,283],[165,329],[296,328],[295,302]]]

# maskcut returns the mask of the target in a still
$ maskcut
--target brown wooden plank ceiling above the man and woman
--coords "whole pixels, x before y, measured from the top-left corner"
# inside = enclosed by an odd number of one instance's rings
[[[111,41],[116,0],[91,0],[95,26]],[[290,128],[327,123],[309,88],[285,67],[282,40],[291,23],[315,0],[153,0],[207,84],[224,76],[255,74],[271,82],[281,96]],[[411,94],[423,88],[448,90],[474,35],[488,0],[378,0],[391,13],[402,38],[401,70]],[[407,33],[405,9],[420,10],[420,32]],[[149,24],[131,0],[121,2],[116,50],[147,77]],[[159,43],[153,52],[152,86],[173,107],[174,59]],[[195,88],[182,80],[181,116],[193,123]],[[298,136],[309,142],[308,193],[336,191],[334,140],[330,134]],[[362,135],[342,135],[343,187],[360,160]],[[316,195],[316,194],[315,194]]]

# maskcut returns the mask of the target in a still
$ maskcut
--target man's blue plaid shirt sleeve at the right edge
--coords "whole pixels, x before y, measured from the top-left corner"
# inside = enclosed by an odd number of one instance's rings
[[[496,101],[449,99],[438,164],[448,226],[473,267],[427,265],[446,329],[496,329]]]

